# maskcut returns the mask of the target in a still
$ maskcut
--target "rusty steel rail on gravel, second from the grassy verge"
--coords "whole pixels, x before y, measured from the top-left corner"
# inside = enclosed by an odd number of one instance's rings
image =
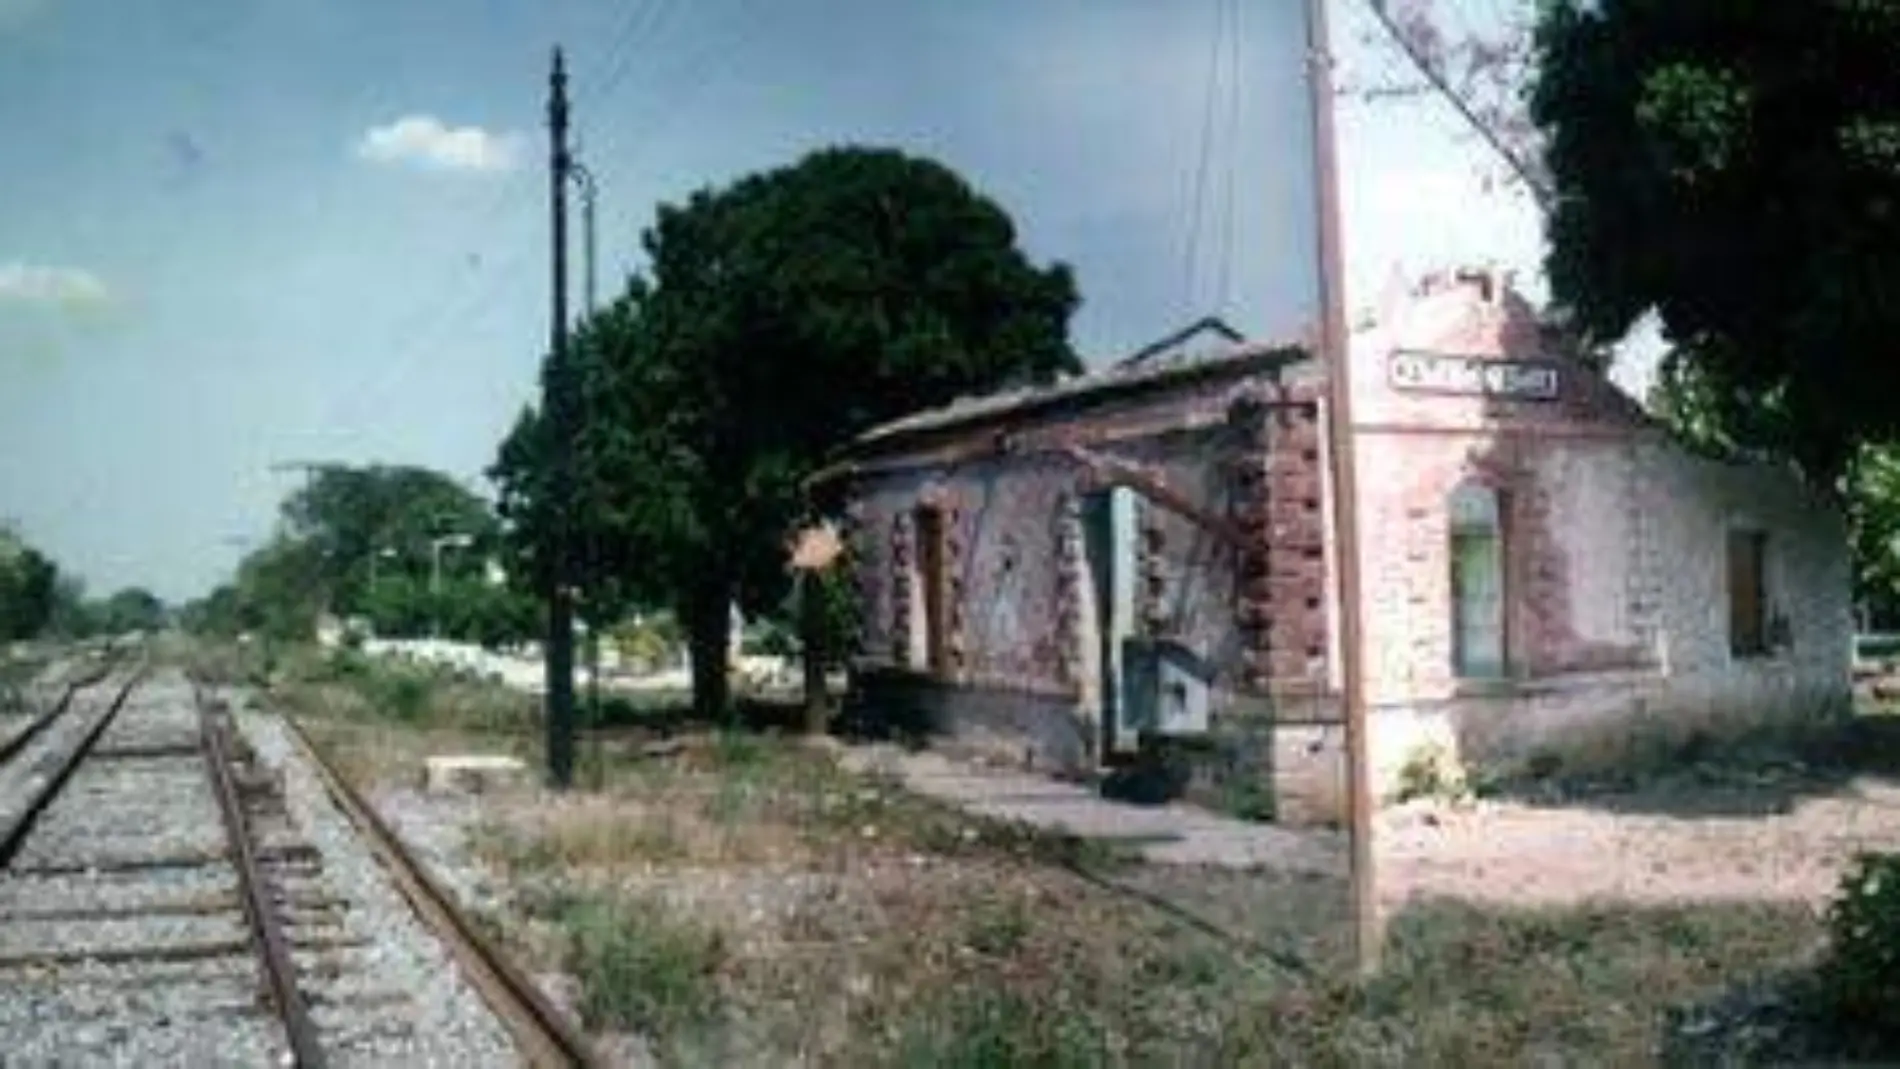
[[[238,866],[239,896],[264,965],[270,999],[289,1035],[293,1063],[298,1069],[321,1069],[323,1046],[317,1042],[317,1023],[310,1016],[310,1004],[302,991],[296,989],[291,944],[283,936],[283,925],[266,891],[256,843],[251,841],[251,822],[243,813],[238,780],[232,778],[230,720],[211,710],[200,687],[192,687],[192,701],[198,703],[200,737],[205,744],[211,790],[218,799],[218,813],[224,816],[224,835],[230,841],[232,862]]]

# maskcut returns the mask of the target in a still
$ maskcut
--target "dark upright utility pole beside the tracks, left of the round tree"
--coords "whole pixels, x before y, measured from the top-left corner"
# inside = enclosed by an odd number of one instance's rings
[[[553,222],[553,323],[547,397],[553,429],[553,532],[547,583],[547,778],[555,790],[574,782],[574,384],[568,368],[568,74],[555,47],[547,76],[547,211]]]

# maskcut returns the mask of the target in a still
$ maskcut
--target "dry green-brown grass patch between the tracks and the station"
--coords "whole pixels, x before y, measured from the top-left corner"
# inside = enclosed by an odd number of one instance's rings
[[[370,782],[483,739],[321,687],[344,708],[315,727]],[[625,750],[600,792],[490,799],[477,853],[517,891],[505,942],[574,974],[593,1027],[640,1031],[674,1065],[1640,1065],[1670,1006],[1820,940],[1801,906],[1421,902],[1358,985],[1328,966],[1343,896],[1324,879],[1125,866],[771,737]],[[1237,953],[1070,866],[1319,966]]]

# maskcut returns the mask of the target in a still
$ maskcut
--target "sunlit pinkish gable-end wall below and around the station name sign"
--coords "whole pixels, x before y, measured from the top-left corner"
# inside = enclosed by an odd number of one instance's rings
[[[1784,471],[1685,454],[1509,302],[1425,300],[1355,349],[1374,780],[1436,742],[1467,761],[1602,765],[1847,695],[1839,516]],[[1410,330],[1410,334],[1408,334]],[[1433,334],[1436,332],[1436,334]],[[1554,399],[1396,389],[1395,347],[1558,365]],[[1512,680],[1452,678],[1454,488],[1501,492]],[[1727,528],[1769,532],[1771,610],[1794,644],[1729,657]]]

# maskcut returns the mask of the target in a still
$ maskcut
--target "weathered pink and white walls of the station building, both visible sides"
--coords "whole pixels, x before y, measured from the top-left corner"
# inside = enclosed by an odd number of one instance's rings
[[[1398,347],[1558,366],[1558,391],[1400,389],[1387,374]],[[1495,291],[1427,294],[1357,338],[1353,361],[1376,790],[1389,794],[1423,742],[1467,761],[1554,754],[1590,765],[1847,697],[1845,532],[1796,478],[1683,454],[1600,374],[1552,355],[1522,302]],[[1077,516],[1094,486],[1060,446],[1144,461],[1243,537],[1227,543],[1142,503],[1142,628],[1186,642],[1214,668],[1222,775],[1269,782],[1288,822],[1338,818],[1336,547],[1324,537],[1317,385],[1208,380],[940,435],[859,475],[847,534],[866,663],[922,663],[908,516],[935,501],[956,572],[950,670],[897,672],[891,693],[1003,754],[1092,763],[1100,665]],[[1233,410],[1243,387],[1275,404]],[[1503,503],[1503,682],[1452,672],[1448,499],[1467,482]],[[1765,659],[1729,655],[1731,524],[1769,532],[1771,611],[1786,617],[1792,642]]]

